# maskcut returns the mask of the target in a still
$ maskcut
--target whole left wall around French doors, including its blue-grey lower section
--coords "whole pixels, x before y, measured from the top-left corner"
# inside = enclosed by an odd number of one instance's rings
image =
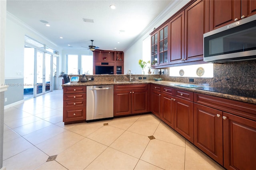
[[[57,47],[54,43],[50,42],[46,37],[28,27],[25,23],[18,20],[12,14],[6,14],[6,38],[5,38],[5,62],[4,78],[6,83],[22,84],[24,78],[24,45],[25,35],[42,43],[46,46],[60,51],[62,49]],[[60,59],[61,61],[61,59]],[[59,68],[61,69],[61,68]],[[8,101],[4,105],[22,102],[23,101],[23,86],[12,86],[5,93],[5,97]]]

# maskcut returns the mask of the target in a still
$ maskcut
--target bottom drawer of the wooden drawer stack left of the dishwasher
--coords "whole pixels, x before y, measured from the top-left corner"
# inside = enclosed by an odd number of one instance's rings
[[[78,121],[86,119],[86,107],[63,108],[63,121]]]

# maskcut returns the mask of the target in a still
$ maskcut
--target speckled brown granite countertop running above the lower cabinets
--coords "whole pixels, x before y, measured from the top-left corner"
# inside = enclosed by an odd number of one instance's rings
[[[222,92],[211,92],[211,91],[206,91],[206,90],[200,90],[197,88],[187,88],[187,87],[180,87],[176,86],[178,84],[186,84],[186,83],[180,83],[180,82],[170,82],[170,81],[155,81],[155,80],[142,80],[142,81],[136,81],[136,82],[110,82],[110,81],[102,81],[102,82],[94,82],[94,81],[88,81],[88,82],[78,82],[78,83],[66,83],[62,84],[64,87],[69,87],[69,86],[97,86],[97,85],[117,85],[117,84],[157,84],[161,86],[168,86],[176,89],[181,89],[181,90],[187,90],[190,92],[196,92],[196,93],[201,93],[201,94],[207,94],[210,96],[216,96],[216,97],[221,97],[221,98],[226,98],[226,99],[231,99],[231,100],[237,100],[240,102],[246,102],[246,103],[251,103],[251,104],[256,104],[256,98],[254,97],[245,97],[246,90],[244,90],[244,93],[242,90],[239,90],[239,93],[235,94],[230,94],[230,90],[225,89],[222,90]],[[196,84],[193,84],[196,85]],[[205,86],[205,85],[198,85],[202,87],[211,87],[211,86]],[[255,94],[255,93],[254,93]]]

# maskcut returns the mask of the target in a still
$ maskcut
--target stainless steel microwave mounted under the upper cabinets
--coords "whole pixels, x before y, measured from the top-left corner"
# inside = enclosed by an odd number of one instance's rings
[[[256,59],[256,15],[204,33],[204,61]]]

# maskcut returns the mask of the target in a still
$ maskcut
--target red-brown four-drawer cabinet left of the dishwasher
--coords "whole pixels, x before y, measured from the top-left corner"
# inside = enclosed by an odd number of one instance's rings
[[[63,122],[86,121],[86,86],[63,87]]]

